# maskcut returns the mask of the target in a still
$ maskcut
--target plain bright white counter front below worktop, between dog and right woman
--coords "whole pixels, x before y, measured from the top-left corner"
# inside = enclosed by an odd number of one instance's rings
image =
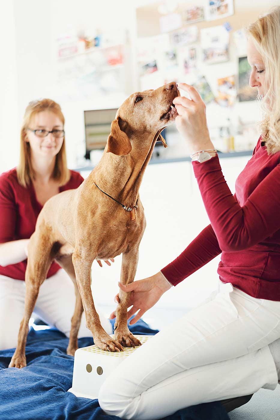
[[[235,179],[249,157],[220,159],[232,194]],[[83,173],[87,175],[87,173]],[[148,165],[140,187],[147,227],[140,243],[135,280],[151,276],[176,258],[209,224],[193,168],[189,162]],[[205,299],[217,287],[219,257],[165,293],[156,308],[189,308]],[[113,309],[121,271],[121,257],[111,267],[92,266],[95,302]]]

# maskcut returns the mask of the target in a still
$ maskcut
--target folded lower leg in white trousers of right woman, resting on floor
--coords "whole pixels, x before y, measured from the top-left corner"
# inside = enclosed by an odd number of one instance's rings
[[[153,420],[205,402],[250,395],[260,388],[275,389],[277,374],[269,347],[170,376],[135,398],[118,383],[105,383],[98,397],[108,415]]]

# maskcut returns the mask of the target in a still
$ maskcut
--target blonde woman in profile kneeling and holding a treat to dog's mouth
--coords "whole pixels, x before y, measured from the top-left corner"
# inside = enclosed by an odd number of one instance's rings
[[[174,100],[177,129],[194,156],[211,224],[159,273],[119,283],[132,292],[128,317],[140,309],[132,323],[221,254],[219,290],[106,378],[98,399],[108,415],[159,419],[194,404],[275,389],[280,379],[280,7],[247,33],[250,86],[258,88],[264,119],[235,195],[209,137],[205,104],[193,87],[180,84],[191,100]]]

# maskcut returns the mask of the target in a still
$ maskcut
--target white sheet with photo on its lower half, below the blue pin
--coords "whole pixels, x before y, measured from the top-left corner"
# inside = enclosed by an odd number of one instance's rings
[[[230,35],[225,26],[201,29],[200,33],[204,63],[214,64],[229,60]]]

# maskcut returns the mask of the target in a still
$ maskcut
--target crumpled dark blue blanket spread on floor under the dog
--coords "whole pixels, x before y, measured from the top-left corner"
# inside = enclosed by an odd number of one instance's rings
[[[112,320],[114,326],[114,320]],[[135,334],[156,334],[143,321],[129,325]],[[66,392],[72,386],[74,357],[67,356],[68,339],[55,328],[31,328],[26,345],[27,366],[8,369],[14,349],[0,351],[0,420],[119,420],[108,416],[97,399],[77,398]],[[93,344],[79,339],[79,347]],[[168,420],[229,420],[219,402],[177,411]]]

